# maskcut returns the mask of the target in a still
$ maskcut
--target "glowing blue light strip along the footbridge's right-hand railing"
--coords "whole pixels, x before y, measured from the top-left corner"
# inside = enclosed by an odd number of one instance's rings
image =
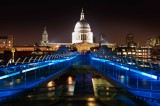
[[[147,76],[147,77],[150,77],[150,78],[153,78],[153,79],[158,79],[158,77],[156,75],[153,75],[153,74],[148,74],[148,73],[145,73],[145,72],[142,72],[140,70],[135,70],[135,69],[131,69],[131,68],[128,68],[128,67],[125,67],[125,66],[122,66],[122,65],[118,65],[110,60],[105,60],[105,59],[99,59],[99,58],[95,58],[95,57],[91,57],[92,60],[97,60],[97,61],[101,61],[101,62],[107,62],[108,64],[110,65],[114,65],[116,67],[119,67],[121,69],[124,69],[124,70],[130,70],[131,72],[134,72],[134,73],[137,73],[137,74],[141,74],[141,75],[144,75],[144,76]]]

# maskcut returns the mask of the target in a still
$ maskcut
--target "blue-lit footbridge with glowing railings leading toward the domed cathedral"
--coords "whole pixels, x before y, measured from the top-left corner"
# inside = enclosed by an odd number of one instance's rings
[[[123,95],[134,100],[140,100],[150,105],[160,104],[160,62],[156,59],[117,56],[107,47],[102,46],[97,52],[71,52],[62,46],[51,55],[21,57],[14,63],[12,59],[0,67],[0,103],[6,103],[22,98],[32,98],[34,95],[55,92],[55,101],[59,98],[87,96],[101,98],[104,103],[115,95]],[[90,75],[86,75],[88,84],[78,86],[74,91],[66,92],[64,86],[55,87],[50,91],[37,87],[52,78],[58,78],[68,70],[78,67],[80,76],[96,73],[107,77],[116,87],[96,84],[93,89]],[[87,69],[87,70],[86,70]],[[73,71],[74,71],[73,70]],[[85,72],[86,71],[86,72]],[[87,80],[86,79],[86,80]],[[53,88],[53,86],[51,86]],[[81,92],[82,89],[84,92]],[[108,93],[112,94],[108,96]],[[92,98],[93,99],[93,98]]]

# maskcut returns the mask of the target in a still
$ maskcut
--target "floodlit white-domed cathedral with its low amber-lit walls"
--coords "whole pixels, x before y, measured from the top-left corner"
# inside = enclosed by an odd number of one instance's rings
[[[85,20],[84,12],[82,9],[80,20],[76,23],[74,32],[72,32],[72,43],[48,43],[47,46],[50,46],[53,50],[56,51],[61,45],[66,45],[70,48],[70,50],[74,49],[82,53],[89,51],[91,48],[99,46],[99,44],[94,43],[93,40],[93,33],[91,32],[89,23]],[[113,44],[107,45],[109,47],[113,46]]]

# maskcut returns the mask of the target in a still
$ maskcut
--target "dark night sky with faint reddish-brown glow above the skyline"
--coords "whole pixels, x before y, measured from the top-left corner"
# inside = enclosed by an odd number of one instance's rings
[[[33,45],[47,27],[50,42],[69,43],[82,7],[94,36],[103,33],[106,42],[125,44],[125,36],[133,33],[145,45],[148,36],[160,35],[159,3],[146,0],[5,0],[0,2],[0,35],[14,35],[16,45]]]

